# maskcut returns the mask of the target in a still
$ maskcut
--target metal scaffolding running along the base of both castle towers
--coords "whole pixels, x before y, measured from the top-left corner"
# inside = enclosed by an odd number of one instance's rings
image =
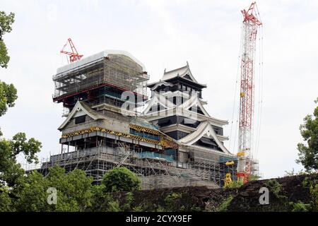
[[[146,154],[147,153],[147,154]],[[93,184],[100,184],[103,175],[115,167],[126,167],[141,177],[143,189],[158,189],[173,186],[204,185],[223,186],[225,174],[230,172],[235,178],[236,164],[225,165],[225,162],[200,160],[192,162],[171,161],[160,155],[148,155],[142,149],[131,149],[131,146],[118,142],[116,146],[103,146],[78,149],[69,153],[51,155],[49,160],[42,160],[37,165],[25,165],[26,172],[37,170],[44,176],[49,174],[49,167],[59,165],[66,173],[73,169],[82,169]]]

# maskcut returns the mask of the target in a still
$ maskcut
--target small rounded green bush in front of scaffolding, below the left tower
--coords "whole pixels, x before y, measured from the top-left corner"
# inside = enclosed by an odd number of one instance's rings
[[[134,191],[141,189],[139,177],[125,167],[110,169],[102,177],[102,184],[107,192]]]

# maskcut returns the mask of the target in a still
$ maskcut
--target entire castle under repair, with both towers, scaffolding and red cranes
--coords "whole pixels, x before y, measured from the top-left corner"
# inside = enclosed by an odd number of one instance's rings
[[[177,186],[218,188],[259,175],[252,155],[254,52],[262,25],[253,3],[242,14],[239,149],[228,150],[223,126],[206,111],[202,90],[189,64],[164,71],[160,81],[125,51],[78,54],[69,38],[69,64],[53,76],[53,101],[64,107],[61,150],[27,172],[43,175],[59,165],[83,169],[100,184],[107,170],[126,167],[141,177],[142,189]],[[151,90],[148,97],[147,91]],[[235,154],[237,152],[237,154]]]

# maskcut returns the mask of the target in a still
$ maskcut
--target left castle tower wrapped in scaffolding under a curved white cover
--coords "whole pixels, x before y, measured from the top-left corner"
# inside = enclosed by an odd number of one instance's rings
[[[177,143],[145,119],[137,109],[148,99],[145,67],[128,52],[104,51],[57,69],[53,101],[62,103],[66,119],[59,126],[61,153],[39,170],[61,165],[79,168],[99,183],[118,166],[141,177],[167,174]],[[184,166],[185,167],[185,166]]]

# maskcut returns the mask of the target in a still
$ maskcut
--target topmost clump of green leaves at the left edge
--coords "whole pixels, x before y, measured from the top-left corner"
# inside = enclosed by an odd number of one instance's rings
[[[7,15],[4,11],[0,11],[0,66],[2,68],[7,68],[8,61],[10,60],[6,44],[4,44],[2,38],[5,33],[11,32],[13,23],[14,13],[9,13]]]

